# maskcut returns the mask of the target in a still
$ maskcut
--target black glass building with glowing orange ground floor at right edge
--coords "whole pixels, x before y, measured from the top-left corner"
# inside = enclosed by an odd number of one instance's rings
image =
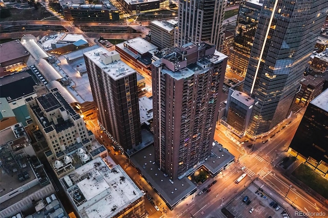
[[[328,173],[328,89],[313,99],[290,145],[290,154],[325,177]]]

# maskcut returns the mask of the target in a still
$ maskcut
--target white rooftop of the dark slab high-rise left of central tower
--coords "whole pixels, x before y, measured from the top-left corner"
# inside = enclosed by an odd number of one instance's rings
[[[93,61],[96,66],[107,73],[112,79],[118,80],[124,78],[130,74],[136,73],[135,70],[130,68],[126,63],[120,60],[120,56],[117,51],[108,51],[105,48],[95,49],[84,53],[91,61]],[[101,55],[107,56],[109,58],[118,58],[118,60],[112,61],[108,64],[101,60]]]

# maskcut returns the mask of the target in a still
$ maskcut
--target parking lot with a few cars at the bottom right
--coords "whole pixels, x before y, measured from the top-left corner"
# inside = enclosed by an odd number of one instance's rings
[[[263,189],[251,183],[227,206],[235,217],[289,218],[288,212],[274,199],[268,197]]]

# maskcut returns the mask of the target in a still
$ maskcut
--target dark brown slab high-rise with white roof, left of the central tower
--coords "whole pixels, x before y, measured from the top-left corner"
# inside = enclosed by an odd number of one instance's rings
[[[98,122],[130,150],[141,142],[136,71],[105,48],[84,53]]]

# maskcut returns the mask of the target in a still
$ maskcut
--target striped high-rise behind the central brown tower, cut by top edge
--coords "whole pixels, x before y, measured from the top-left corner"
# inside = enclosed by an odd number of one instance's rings
[[[220,51],[223,40],[226,0],[179,1],[179,24],[176,46],[188,42],[209,42]]]

